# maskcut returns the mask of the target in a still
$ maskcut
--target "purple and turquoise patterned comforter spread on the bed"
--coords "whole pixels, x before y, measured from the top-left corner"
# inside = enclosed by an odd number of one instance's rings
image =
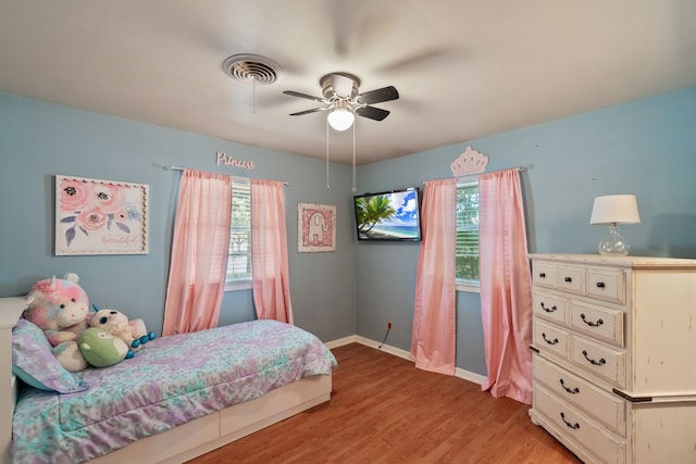
[[[12,462],[80,463],[336,365],[315,336],[276,321],[158,338],[130,360],[77,373],[85,391],[24,389]]]

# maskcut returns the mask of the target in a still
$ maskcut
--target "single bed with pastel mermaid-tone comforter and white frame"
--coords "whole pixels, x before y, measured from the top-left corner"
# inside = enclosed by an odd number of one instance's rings
[[[3,464],[182,463],[331,399],[331,351],[276,321],[151,340],[133,359],[73,374],[65,392],[29,387],[8,349],[24,336],[24,305],[0,299]]]

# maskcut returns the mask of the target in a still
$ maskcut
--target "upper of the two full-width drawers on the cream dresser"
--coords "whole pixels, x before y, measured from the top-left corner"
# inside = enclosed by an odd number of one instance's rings
[[[573,403],[592,418],[625,437],[626,411],[620,398],[601,391],[539,355],[534,355],[534,380],[544,384],[561,400]]]

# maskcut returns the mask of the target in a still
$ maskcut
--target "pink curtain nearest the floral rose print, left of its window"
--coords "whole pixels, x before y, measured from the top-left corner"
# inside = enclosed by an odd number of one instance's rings
[[[225,291],[231,208],[229,176],[184,170],[162,335],[217,325]]]

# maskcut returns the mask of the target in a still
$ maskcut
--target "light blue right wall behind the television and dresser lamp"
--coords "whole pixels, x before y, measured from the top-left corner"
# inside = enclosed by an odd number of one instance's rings
[[[451,177],[468,146],[488,155],[487,171],[522,174],[530,250],[587,252],[606,228],[591,226],[595,197],[637,196],[642,224],[624,226],[632,254],[696,258],[696,87],[557,120],[465,143],[362,166],[358,191],[421,186]],[[409,350],[418,246],[357,244],[358,334]],[[481,303],[458,293],[457,365],[485,374]]]

